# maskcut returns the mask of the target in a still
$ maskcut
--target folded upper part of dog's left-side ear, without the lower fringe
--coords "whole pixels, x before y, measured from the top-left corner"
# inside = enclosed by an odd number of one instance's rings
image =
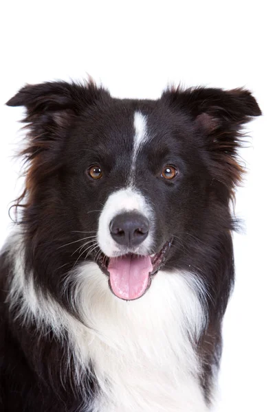
[[[76,117],[106,96],[109,93],[91,81],[85,84],[45,82],[23,87],[6,103],[27,109],[22,122],[27,123],[29,146],[23,155],[30,160],[43,151],[56,148]]]

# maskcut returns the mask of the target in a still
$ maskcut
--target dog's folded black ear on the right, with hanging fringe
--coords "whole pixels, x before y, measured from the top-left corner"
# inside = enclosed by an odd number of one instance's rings
[[[194,122],[197,132],[204,136],[203,147],[210,153],[213,177],[224,183],[232,194],[243,173],[237,159],[241,128],[253,116],[261,115],[250,91],[177,88],[165,91],[162,100]]]

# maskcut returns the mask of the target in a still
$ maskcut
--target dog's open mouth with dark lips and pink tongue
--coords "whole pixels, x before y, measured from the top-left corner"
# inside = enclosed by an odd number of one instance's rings
[[[97,260],[103,273],[109,277],[112,293],[124,300],[139,299],[151,286],[153,276],[166,262],[166,253],[172,240],[154,255],[127,253],[118,258],[108,258],[100,253]]]

